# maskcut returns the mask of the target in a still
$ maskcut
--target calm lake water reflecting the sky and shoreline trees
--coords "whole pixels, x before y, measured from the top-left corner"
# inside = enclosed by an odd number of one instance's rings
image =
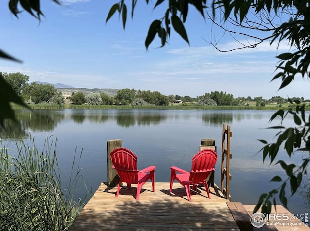
[[[58,138],[57,155],[62,174],[67,177],[75,155],[82,151],[83,179],[94,192],[101,182],[107,181],[107,141],[122,139],[123,147],[138,156],[138,168],[155,165],[155,181],[170,181],[170,166],[190,170],[191,157],[198,152],[202,139],[215,139],[221,153],[222,124],[231,125],[230,194],[233,201],[256,204],[262,193],[276,188],[268,183],[275,175],[284,177],[279,166],[263,164],[262,153],[255,155],[263,145],[257,139],[272,142],[276,130],[264,129],[274,111],[252,110],[147,110],[147,109],[93,109],[93,110],[38,110],[30,113],[16,111],[22,127],[10,127],[9,135],[1,134],[4,143],[13,145],[11,138],[35,137],[37,147],[46,136]],[[279,120],[271,124],[279,125]],[[283,149],[283,148],[282,148]],[[288,160],[280,149],[278,158]],[[294,157],[294,163],[302,156]],[[215,181],[220,185],[220,155],[216,165]],[[304,179],[308,183],[307,179]],[[309,212],[306,199],[308,189],[300,190],[289,198],[289,209],[294,214]],[[78,197],[85,195],[82,184]],[[290,195],[287,192],[287,195]],[[277,198],[278,202],[279,199]]]

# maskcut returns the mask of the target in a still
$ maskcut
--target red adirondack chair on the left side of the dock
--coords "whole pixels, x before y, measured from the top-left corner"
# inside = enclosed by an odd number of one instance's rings
[[[142,186],[151,179],[152,190],[155,192],[155,166],[149,166],[142,170],[137,170],[137,156],[127,148],[115,148],[110,157],[113,163],[113,168],[116,169],[120,176],[120,182],[117,187],[115,197],[118,197],[122,182],[127,183],[127,188],[130,189],[131,184],[137,184],[136,200],[139,199]],[[148,173],[149,172],[149,173]]]

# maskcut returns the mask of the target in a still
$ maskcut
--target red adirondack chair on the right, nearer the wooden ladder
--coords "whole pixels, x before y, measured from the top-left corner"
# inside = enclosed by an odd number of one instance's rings
[[[190,198],[190,185],[193,185],[195,190],[199,184],[204,184],[205,189],[210,198],[210,191],[207,184],[207,177],[214,170],[214,166],[217,162],[217,153],[212,149],[204,149],[198,152],[192,158],[192,169],[187,172],[178,167],[171,167],[171,181],[170,181],[170,192],[172,192],[173,181],[176,179],[186,189],[187,198]],[[177,174],[179,172],[180,174]]]

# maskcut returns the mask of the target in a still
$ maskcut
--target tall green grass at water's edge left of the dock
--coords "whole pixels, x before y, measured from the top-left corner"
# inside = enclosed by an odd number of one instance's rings
[[[79,166],[74,174],[74,159],[70,182],[63,187],[56,145],[57,139],[46,137],[39,149],[31,137],[28,143],[16,141],[17,152],[1,147],[0,230],[63,231],[79,214],[87,196],[73,199]]]

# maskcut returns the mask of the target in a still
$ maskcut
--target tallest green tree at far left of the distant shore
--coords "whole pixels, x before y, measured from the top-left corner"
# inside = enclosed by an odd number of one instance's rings
[[[29,76],[16,72],[16,73],[1,73],[4,79],[12,86],[13,90],[17,93],[17,95],[21,95],[23,92],[23,88],[28,84]]]

